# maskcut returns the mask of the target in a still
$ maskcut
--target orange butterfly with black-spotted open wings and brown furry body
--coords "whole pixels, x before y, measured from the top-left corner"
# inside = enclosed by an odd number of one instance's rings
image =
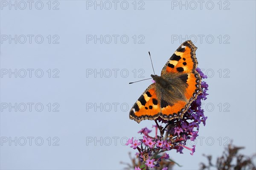
[[[190,41],[183,42],[172,54],[161,71],[161,76],[151,74],[154,83],[131,108],[130,119],[164,120],[183,118],[191,103],[202,93],[200,74],[195,70],[198,61],[197,47]]]

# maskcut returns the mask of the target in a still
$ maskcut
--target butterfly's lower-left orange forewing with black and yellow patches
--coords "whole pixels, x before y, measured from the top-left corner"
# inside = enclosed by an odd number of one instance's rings
[[[160,115],[160,102],[157,99],[155,83],[148,86],[130,111],[130,119],[140,123],[142,120],[154,120]]]

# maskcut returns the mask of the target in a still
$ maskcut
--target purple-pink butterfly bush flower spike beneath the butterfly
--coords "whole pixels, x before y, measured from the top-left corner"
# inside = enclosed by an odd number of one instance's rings
[[[202,79],[207,78],[200,68],[196,68],[196,71],[198,71]],[[201,107],[201,100],[207,99],[207,83],[202,81],[201,88],[202,93],[191,103],[182,119],[168,121],[159,117],[155,120],[156,125],[153,125],[154,135],[150,135],[152,130],[144,127],[138,132],[143,134],[143,139],[140,139],[140,142],[133,140],[133,138],[128,140],[126,145],[131,144],[130,147],[137,149],[139,152],[136,153],[136,156],[144,163],[142,167],[135,167],[135,170],[148,170],[148,168],[160,167],[161,159],[171,161],[169,154],[166,153],[168,150],[176,150],[178,153],[183,153],[185,148],[190,151],[191,155],[194,154],[195,145],[190,148],[186,146],[186,142],[187,140],[194,141],[196,139],[199,125],[201,122],[205,125],[207,119]],[[160,122],[162,125],[159,125]],[[162,170],[168,170],[168,167],[163,167]]]

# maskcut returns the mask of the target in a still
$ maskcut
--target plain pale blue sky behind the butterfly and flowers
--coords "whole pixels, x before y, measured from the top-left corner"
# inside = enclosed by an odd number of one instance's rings
[[[206,126],[200,127],[201,141],[198,138],[194,156],[185,149],[184,154],[169,152],[183,165],[175,168],[198,169],[201,161],[207,161],[203,153],[216,158],[230,140],[246,147],[242,153],[253,155],[255,1],[204,1],[201,7],[198,1],[182,1],[185,6],[169,0],[118,1],[116,9],[115,3],[108,2],[112,5],[109,10],[109,3],[104,1],[102,10],[100,6],[95,10],[94,1],[33,1],[30,10],[29,3],[25,8],[17,1],[15,10],[9,1],[0,1],[0,168],[122,169],[119,161],[130,162],[128,152],[135,154],[124,146],[126,139],[140,137],[137,131],[153,124],[137,124],[128,116],[151,80],[132,85],[128,82],[143,79],[140,74],[149,78],[153,73],[148,51],[159,75],[172,53],[189,37],[198,47],[198,67],[209,76],[209,96],[203,106],[208,119]],[[44,6],[39,10],[41,3]],[[17,44],[15,40],[9,42],[9,35],[17,35]],[[102,35],[102,44],[89,40],[90,35]],[[44,40],[39,44],[41,37]],[[9,71],[15,69],[17,78],[15,74],[9,77]],[[34,69],[31,78],[27,69]],[[101,69],[102,77],[94,75]],[[93,73],[88,74],[90,71]],[[44,75],[38,78],[41,72]],[[9,103],[17,103],[17,112]],[[25,103],[26,109],[20,103]],[[33,103],[31,111],[27,103]],[[102,111],[94,103],[102,103]],[[41,105],[44,108],[39,112]],[[15,137],[17,146],[15,142],[9,144]],[[100,142],[87,143],[89,139],[102,141],[102,146]]]

